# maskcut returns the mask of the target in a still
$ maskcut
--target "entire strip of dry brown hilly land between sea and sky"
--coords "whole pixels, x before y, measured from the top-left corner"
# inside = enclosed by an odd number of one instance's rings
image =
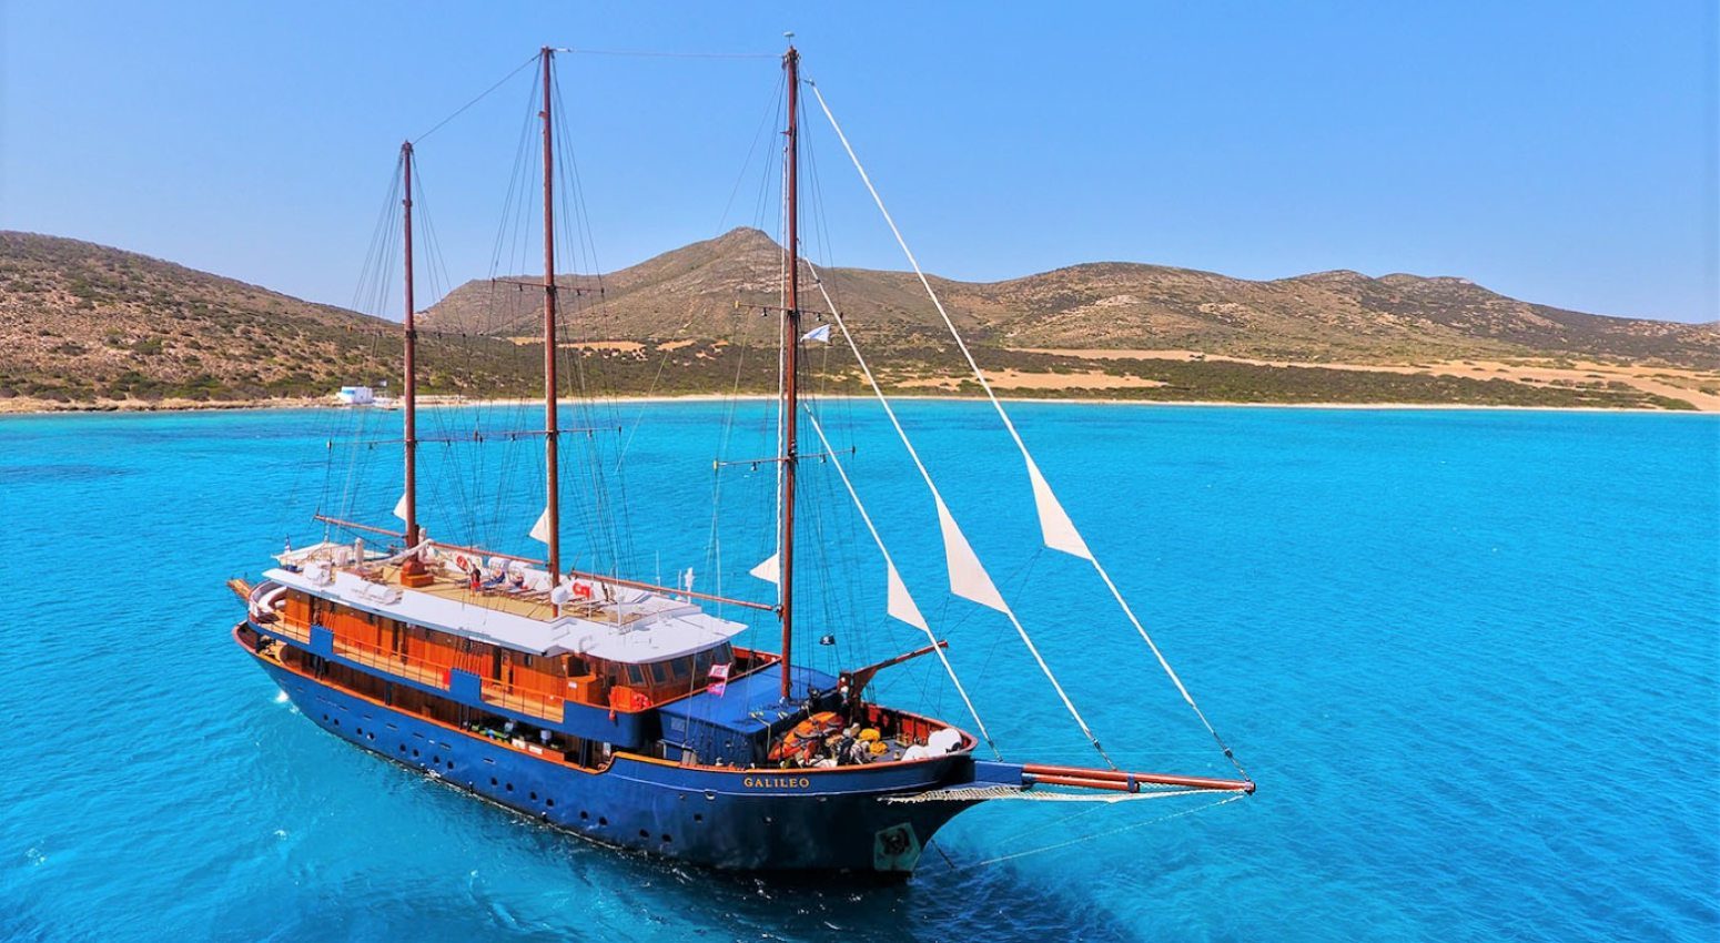
[[[781,250],[736,229],[599,279],[564,279],[569,391],[776,389]],[[972,394],[917,279],[826,286],[898,392]],[[1004,282],[934,279],[1008,394],[1242,403],[1720,410],[1720,330],[1515,301],[1462,279],[1324,272],[1250,282],[1094,263]],[[580,291],[573,291],[580,289]],[[421,389],[538,389],[540,293],[468,282],[423,311]],[[824,308],[803,301],[808,322]],[[0,411],[327,398],[397,373],[399,325],[91,243],[0,232]],[[846,349],[808,385],[863,392]]]

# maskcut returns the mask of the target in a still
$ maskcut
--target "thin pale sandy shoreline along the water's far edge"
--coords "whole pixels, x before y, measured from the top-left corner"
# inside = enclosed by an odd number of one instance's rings
[[[332,403],[327,398],[282,398],[282,399],[239,399],[239,401],[172,401],[163,399],[158,403],[144,401],[122,401],[122,403],[96,403],[96,404],[52,404],[48,401],[28,399],[24,398],[12,401],[0,401],[0,420],[12,416],[64,416],[64,415],[144,415],[144,413],[218,413],[218,411],[261,411],[261,410],[353,410],[353,406],[344,406]],[[626,403],[626,404],[674,404],[674,403],[729,403],[729,401],[753,401],[769,403],[776,396],[765,392],[746,392],[746,394],[716,394],[716,392],[690,392],[681,396],[605,396],[593,399],[595,403]],[[826,396],[822,399],[863,399],[872,401],[872,396]],[[949,394],[893,394],[891,401],[927,401],[927,403],[986,403],[984,396],[949,396]],[[1379,411],[1409,411],[1409,410],[1438,410],[1438,411],[1515,411],[1515,413],[1620,413],[1620,415],[1689,415],[1689,416],[1711,416],[1713,411],[1708,410],[1651,410],[1643,406],[1515,406],[1515,404],[1490,404],[1490,403],[1250,403],[1250,401],[1230,401],[1230,399],[1127,399],[1127,398],[1068,398],[1068,396],[999,396],[1003,403],[1032,403],[1032,404],[1065,404],[1065,406],[1189,406],[1189,408],[1264,408],[1264,410],[1379,410]],[[540,399],[525,398],[497,398],[497,399],[459,399],[459,401],[432,401],[423,403],[420,410],[466,410],[475,406],[537,406]],[[573,403],[564,401],[564,403]],[[22,406],[22,408],[19,408]],[[378,411],[399,411],[397,408],[378,410]]]

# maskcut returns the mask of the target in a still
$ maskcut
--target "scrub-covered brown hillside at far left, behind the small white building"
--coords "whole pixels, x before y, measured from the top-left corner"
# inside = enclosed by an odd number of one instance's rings
[[[399,325],[380,318],[93,243],[0,232],[0,399],[327,396],[394,375],[399,349]],[[506,341],[466,342],[427,382],[506,391],[521,360]]]

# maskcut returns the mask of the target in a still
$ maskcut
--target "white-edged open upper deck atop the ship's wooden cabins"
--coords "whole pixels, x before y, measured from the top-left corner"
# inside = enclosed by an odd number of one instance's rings
[[[647,664],[717,647],[746,630],[688,599],[604,580],[569,583],[571,597],[557,607],[547,573],[501,558],[480,571],[476,589],[470,568],[478,561],[461,556],[432,556],[428,582],[416,587],[402,585],[399,566],[347,544],[316,544],[277,559],[280,566],[265,576],[316,599],[542,656]],[[463,561],[468,570],[459,568]],[[492,578],[497,573],[501,580]]]

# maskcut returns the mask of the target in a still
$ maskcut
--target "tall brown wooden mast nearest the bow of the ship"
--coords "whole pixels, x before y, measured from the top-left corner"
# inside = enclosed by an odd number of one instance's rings
[[[798,411],[798,353],[800,353],[800,196],[798,162],[800,129],[800,52],[793,43],[783,55],[788,71],[788,131],[784,169],[788,201],[788,298],[783,308],[783,700],[793,697],[793,666],[789,656],[795,644],[795,468],[800,463],[796,428]]]

